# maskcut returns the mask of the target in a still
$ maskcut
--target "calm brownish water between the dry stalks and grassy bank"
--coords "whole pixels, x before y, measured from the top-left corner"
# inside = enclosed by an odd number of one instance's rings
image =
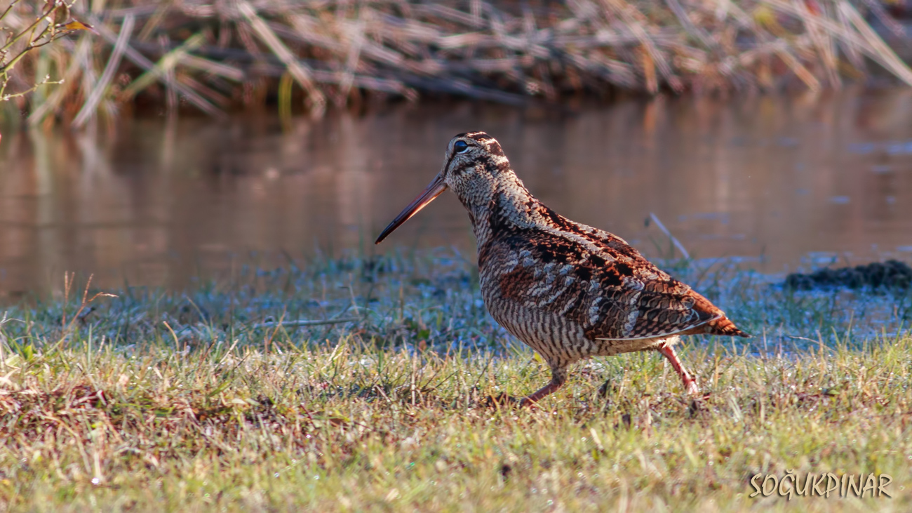
[[[182,288],[243,263],[349,248],[474,251],[444,194],[373,237],[437,173],[457,132],[497,137],[558,212],[657,256],[655,213],[694,257],[782,272],[814,252],[852,264],[912,256],[907,90],[626,101],[570,111],[401,106],[285,127],[122,120],[112,134],[6,133],[0,142],[0,300],[58,289],[65,270]]]

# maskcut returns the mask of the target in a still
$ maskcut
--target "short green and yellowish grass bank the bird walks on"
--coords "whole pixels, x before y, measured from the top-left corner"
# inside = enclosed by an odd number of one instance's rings
[[[488,406],[548,372],[450,250],[11,307],[0,510],[907,510],[908,293],[667,267],[758,335],[691,338],[701,406],[652,353],[579,364],[538,410]],[[886,473],[893,498],[749,497],[789,470]]]

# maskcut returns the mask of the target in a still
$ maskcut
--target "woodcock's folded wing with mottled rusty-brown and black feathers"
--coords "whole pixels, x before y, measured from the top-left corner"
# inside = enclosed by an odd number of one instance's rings
[[[511,255],[499,273],[502,293],[574,320],[589,339],[652,339],[724,318],[709,299],[605,231],[565,225],[512,235],[499,243]]]

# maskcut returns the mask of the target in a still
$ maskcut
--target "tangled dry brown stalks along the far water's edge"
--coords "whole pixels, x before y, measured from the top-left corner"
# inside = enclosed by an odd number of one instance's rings
[[[14,1],[0,36],[54,4]],[[877,0],[96,0],[73,11],[98,36],[36,49],[8,73],[17,90],[45,75],[64,82],[16,98],[32,124],[79,127],[137,102],[219,117],[267,97],[285,115],[293,99],[319,115],[365,94],[521,103],[796,81],[817,90],[865,77],[870,62],[912,85],[880,36],[906,45],[903,27]]]

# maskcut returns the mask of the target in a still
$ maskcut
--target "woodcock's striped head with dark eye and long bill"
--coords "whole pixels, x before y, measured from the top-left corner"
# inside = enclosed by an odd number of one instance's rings
[[[447,145],[440,173],[389,223],[375,244],[379,244],[412,215],[418,214],[447,188],[459,197],[470,215],[475,215],[476,211],[488,208],[494,194],[517,187],[525,190],[496,139],[483,131],[461,133]]]

